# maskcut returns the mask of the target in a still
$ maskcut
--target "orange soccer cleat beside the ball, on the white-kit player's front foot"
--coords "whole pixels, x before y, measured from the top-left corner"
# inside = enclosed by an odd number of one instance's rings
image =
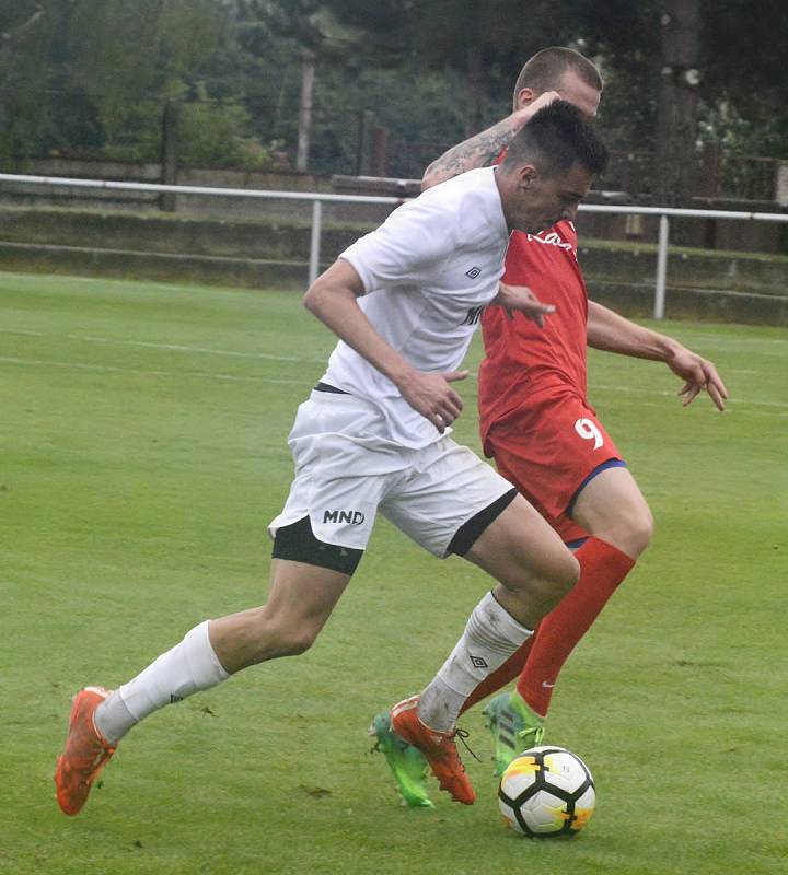
[[[418,715],[418,702],[419,697],[412,696],[395,704],[391,710],[392,728],[424,754],[441,790],[463,805],[473,805],[476,794],[454,744],[456,733],[438,732],[422,723]]]

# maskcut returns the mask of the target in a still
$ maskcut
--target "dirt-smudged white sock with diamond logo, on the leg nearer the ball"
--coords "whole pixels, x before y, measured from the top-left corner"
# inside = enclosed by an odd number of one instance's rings
[[[493,593],[487,593],[473,609],[449,658],[421,693],[421,722],[439,732],[451,732],[468,696],[532,634]]]

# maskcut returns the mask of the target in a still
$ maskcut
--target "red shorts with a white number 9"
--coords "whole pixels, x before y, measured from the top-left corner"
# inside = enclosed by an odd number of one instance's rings
[[[494,423],[484,451],[565,541],[587,535],[567,514],[583,480],[605,462],[621,459],[594,409],[555,390],[530,397],[528,407]]]

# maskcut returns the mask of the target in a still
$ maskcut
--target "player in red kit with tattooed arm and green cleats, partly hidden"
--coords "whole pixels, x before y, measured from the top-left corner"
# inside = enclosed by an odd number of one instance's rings
[[[499,160],[536,100],[556,96],[589,118],[602,80],[577,51],[547,48],[523,67],[513,113],[450,149],[425,173],[422,188]],[[557,93],[557,94],[556,94]],[[684,381],[686,406],[703,390],[719,410],[728,397],[714,364],[657,331],[588,300],[571,215],[536,234],[514,232],[503,282],[529,287],[555,306],[538,326],[490,306],[482,316],[486,358],[478,375],[485,454],[576,549],[580,579],[536,633],[466,700],[463,710],[518,678],[512,693],[485,708],[501,773],[514,755],[540,744],[564,663],[648,546],[653,521],[618,448],[587,398],[587,347],[667,364]],[[391,732],[386,714],[371,727],[409,805],[430,805],[422,762]]]

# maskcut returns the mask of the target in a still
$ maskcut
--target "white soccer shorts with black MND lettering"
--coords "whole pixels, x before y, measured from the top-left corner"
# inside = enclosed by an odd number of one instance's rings
[[[419,450],[380,436],[382,415],[351,395],[313,392],[288,439],[296,479],[278,528],[310,517],[326,544],[363,550],[378,510],[417,544],[447,556],[457,529],[512,490],[451,438]]]

